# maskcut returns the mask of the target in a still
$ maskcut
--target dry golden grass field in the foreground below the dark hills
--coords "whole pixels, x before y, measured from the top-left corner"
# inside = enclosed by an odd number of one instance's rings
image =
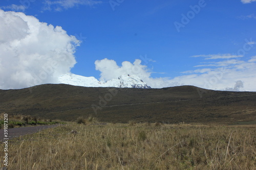
[[[68,123],[10,140],[8,168],[255,169],[255,132],[242,126]]]

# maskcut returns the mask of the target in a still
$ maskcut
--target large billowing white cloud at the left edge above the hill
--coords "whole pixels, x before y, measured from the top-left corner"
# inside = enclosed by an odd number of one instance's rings
[[[79,45],[61,27],[21,12],[0,10],[0,89],[58,83],[70,73]]]

